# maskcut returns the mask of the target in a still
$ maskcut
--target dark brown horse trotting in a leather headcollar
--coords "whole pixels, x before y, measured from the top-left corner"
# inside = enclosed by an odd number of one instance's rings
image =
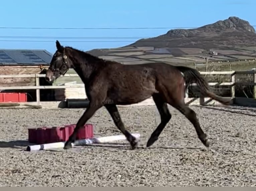
[[[195,111],[185,105],[185,89],[189,84],[197,83],[202,95],[207,95],[225,105],[230,104],[230,99],[224,99],[210,92],[206,80],[192,68],[176,67],[165,63],[123,65],[100,59],[72,47],[63,47],[58,41],[56,41],[56,48],[46,79],[56,80],[60,75],[65,75],[69,68],[73,68],[84,82],[86,95],[90,101],[88,108],[78,120],[74,132],[66,141],[64,149],[71,148],[78,129],[84,126],[102,106],[108,110],[115,125],[134,149],[137,140],[125,129],[116,105],[138,103],[151,96],[160,113],[161,122],[151,134],[147,147],[158,139],[171,119],[167,103],[186,116],[194,125],[199,139],[209,147],[207,135],[200,127]]]

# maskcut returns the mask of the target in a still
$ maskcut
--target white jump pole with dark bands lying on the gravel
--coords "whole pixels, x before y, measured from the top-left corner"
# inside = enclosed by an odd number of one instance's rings
[[[140,138],[139,133],[133,133],[132,134],[136,139]],[[118,140],[126,140],[126,137],[121,135],[112,135],[112,136],[106,136],[106,137],[97,137],[97,138],[89,138],[89,139],[80,139],[76,140],[74,143],[71,143],[73,146],[80,146],[80,145],[87,145],[87,144],[97,144],[97,143],[107,143],[112,141],[118,141]],[[53,149],[53,148],[63,148],[66,141],[62,142],[55,142],[55,143],[46,143],[46,144],[38,144],[38,145],[28,145],[27,151],[38,151],[38,150],[46,150],[46,149]]]

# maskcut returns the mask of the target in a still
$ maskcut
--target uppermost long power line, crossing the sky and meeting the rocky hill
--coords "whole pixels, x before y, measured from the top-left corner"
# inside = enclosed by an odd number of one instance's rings
[[[206,25],[204,25],[206,26]],[[0,29],[49,29],[49,30],[126,30],[126,29],[192,29],[200,27],[0,27]],[[235,27],[256,27],[256,25],[241,25]],[[223,26],[214,26],[214,28],[223,28]]]

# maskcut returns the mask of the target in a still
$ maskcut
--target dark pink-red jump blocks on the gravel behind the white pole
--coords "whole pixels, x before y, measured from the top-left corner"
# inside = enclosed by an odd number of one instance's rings
[[[67,141],[73,133],[76,124],[65,125],[62,127],[40,127],[28,129],[28,141],[35,144],[46,144],[53,142]],[[93,124],[85,124],[77,133],[77,139],[88,139],[94,137]]]

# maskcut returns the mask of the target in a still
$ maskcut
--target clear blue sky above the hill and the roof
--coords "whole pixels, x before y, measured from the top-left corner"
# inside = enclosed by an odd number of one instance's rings
[[[199,27],[230,16],[237,16],[256,25],[255,7],[254,0],[6,0],[1,1],[0,8],[0,48],[46,49],[53,53],[56,40],[62,45],[84,51],[115,48],[131,44],[140,38],[164,34],[172,28]],[[165,29],[68,30],[8,27]],[[30,38],[24,38],[26,36]]]

